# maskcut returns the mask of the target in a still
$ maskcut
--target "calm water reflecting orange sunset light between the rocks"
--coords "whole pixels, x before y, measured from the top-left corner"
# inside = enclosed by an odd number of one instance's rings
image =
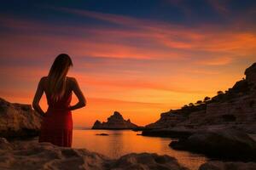
[[[108,133],[108,136],[96,135]],[[159,137],[145,137],[137,135],[139,132],[131,130],[91,130],[73,129],[73,148],[86,148],[96,151],[111,158],[118,158],[131,152],[155,152],[160,155],[169,155],[177,158],[177,161],[185,167],[197,170],[207,161],[205,156],[192,154],[186,151],[172,150],[168,146],[172,139]]]

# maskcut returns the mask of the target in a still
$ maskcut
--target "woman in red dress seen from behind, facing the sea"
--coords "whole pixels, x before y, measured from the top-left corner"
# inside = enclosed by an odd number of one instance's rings
[[[67,54],[55,58],[48,77],[42,77],[34,96],[32,106],[39,114],[44,115],[39,142],[50,142],[59,146],[71,147],[73,120],[71,111],[84,107],[86,100],[74,77],[67,77],[67,71],[73,62]],[[71,106],[72,92],[79,102]],[[46,113],[41,109],[39,100],[45,93],[49,105]]]

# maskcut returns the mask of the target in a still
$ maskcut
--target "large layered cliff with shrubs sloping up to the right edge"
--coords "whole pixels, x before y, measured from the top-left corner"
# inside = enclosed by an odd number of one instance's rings
[[[236,127],[247,133],[256,133],[256,63],[245,71],[246,78],[218,92],[212,99],[184,105],[160,115],[160,120],[145,129],[169,129],[178,133],[193,129]],[[146,132],[149,134],[150,132]]]

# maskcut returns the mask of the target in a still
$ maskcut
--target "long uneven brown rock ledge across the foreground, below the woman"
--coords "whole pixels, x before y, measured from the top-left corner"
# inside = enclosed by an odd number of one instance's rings
[[[58,147],[37,141],[9,143],[6,139],[0,139],[0,153],[1,169],[187,170],[171,156],[131,153],[112,160],[86,149]]]

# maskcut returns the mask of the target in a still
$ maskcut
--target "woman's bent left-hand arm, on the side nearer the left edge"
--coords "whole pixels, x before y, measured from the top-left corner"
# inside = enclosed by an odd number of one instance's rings
[[[34,99],[33,99],[33,102],[32,102],[32,107],[40,115],[45,116],[44,111],[41,109],[41,107],[39,105],[39,101],[40,101],[43,94],[44,94],[44,88],[43,88],[43,77],[42,77],[40,82],[38,83],[38,89],[37,89],[37,92],[34,96]]]

